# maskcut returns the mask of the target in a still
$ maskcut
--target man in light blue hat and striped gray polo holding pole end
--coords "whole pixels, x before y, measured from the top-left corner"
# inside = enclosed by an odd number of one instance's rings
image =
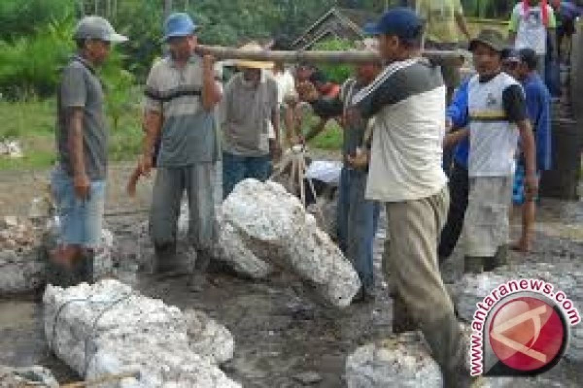
[[[195,54],[196,26],[185,13],[170,15],[164,41],[170,55],[157,62],[146,82],[146,139],[140,162],[142,174],[157,155],[150,234],[156,251],[156,271],[175,269],[176,230],[180,200],[188,195],[189,242],[208,257],[213,240],[214,207],[211,172],[220,157],[213,108],[222,92],[213,74],[212,56]]]

